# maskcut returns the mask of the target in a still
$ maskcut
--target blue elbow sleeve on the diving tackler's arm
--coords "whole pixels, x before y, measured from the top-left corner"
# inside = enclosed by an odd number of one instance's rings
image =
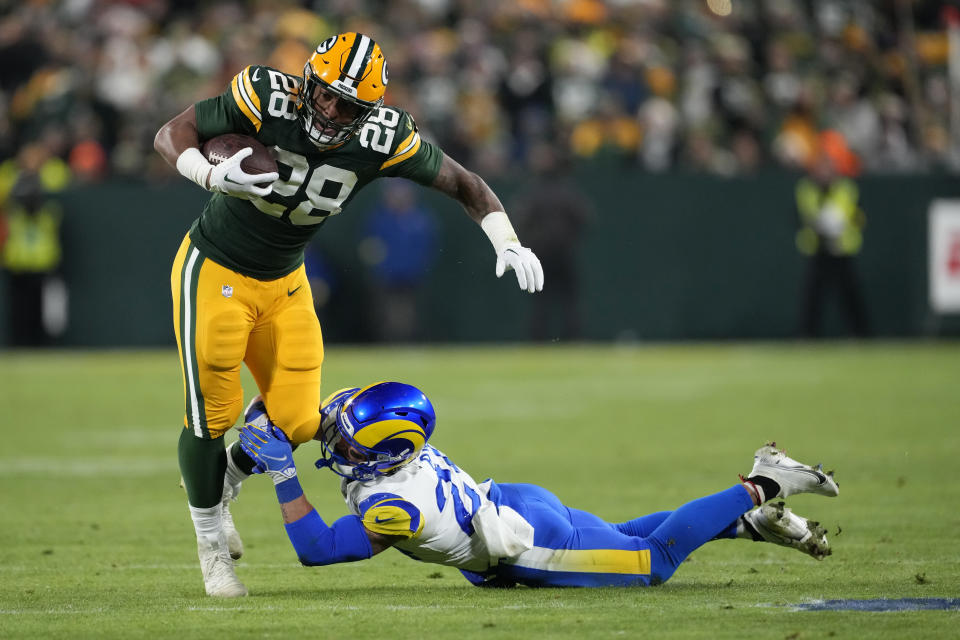
[[[328,527],[320,514],[313,510],[284,526],[304,566],[354,562],[373,555],[367,531],[357,516],[343,516]]]

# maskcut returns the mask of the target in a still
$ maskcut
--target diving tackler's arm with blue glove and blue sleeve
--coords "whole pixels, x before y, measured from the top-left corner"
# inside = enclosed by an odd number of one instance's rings
[[[256,462],[255,473],[273,480],[287,536],[301,564],[322,566],[364,560],[393,545],[393,540],[369,531],[357,516],[343,516],[328,526],[307,501],[297,479],[293,449],[273,424],[246,424],[240,446]]]

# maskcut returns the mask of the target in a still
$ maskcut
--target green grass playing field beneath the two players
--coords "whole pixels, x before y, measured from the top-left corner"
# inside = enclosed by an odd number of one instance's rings
[[[251,597],[207,598],[178,488],[178,366],[172,348],[0,353],[0,637],[958,637],[955,610],[790,605],[960,597],[960,343],[329,346],[326,389],[417,384],[434,444],[475,478],[609,520],[730,486],[768,439],[836,469],[839,498],[790,501],[828,525],[830,558],[721,541],[650,589],[480,590],[394,551],[303,568],[254,477],[233,507]],[[345,508],[316,456],[297,452],[329,520]]]

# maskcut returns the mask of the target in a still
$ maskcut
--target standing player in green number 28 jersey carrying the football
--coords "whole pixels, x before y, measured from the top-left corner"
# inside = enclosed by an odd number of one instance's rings
[[[476,174],[421,139],[408,113],[383,103],[387,64],[368,36],[343,33],[317,47],[303,77],[250,66],[223,94],[188,107],[157,133],[157,151],[213,192],[174,261],[170,281],[186,411],[178,452],[206,592],[246,595],[233,560],[243,546],[229,501],[253,468],[222,436],[240,414],[240,366],[290,441],[320,424],[323,340],[303,250],[323,222],[372,180],[403,177],[454,198],[487,234],[499,277],[543,288],[537,257],[517,239],[503,205]],[[252,136],[278,170],[248,174],[246,148],[214,165],[203,141]]]

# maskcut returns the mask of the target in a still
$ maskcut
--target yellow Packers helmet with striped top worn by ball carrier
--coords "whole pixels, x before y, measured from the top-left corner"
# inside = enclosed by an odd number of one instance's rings
[[[383,105],[387,62],[362,33],[327,38],[303,67],[297,115],[321,149],[343,144]]]

